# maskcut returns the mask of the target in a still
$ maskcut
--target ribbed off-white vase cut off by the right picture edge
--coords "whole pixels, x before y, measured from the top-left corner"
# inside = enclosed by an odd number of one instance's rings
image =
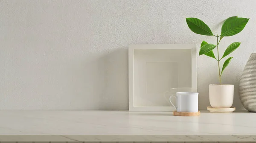
[[[256,112],[256,53],[252,53],[244,67],[240,83],[239,97],[244,108]]]

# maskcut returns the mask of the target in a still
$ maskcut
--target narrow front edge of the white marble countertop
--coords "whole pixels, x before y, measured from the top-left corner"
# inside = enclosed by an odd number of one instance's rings
[[[255,142],[256,135],[0,135],[0,142]]]

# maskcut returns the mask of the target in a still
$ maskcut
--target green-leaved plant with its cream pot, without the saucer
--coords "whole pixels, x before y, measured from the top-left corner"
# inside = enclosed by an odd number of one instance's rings
[[[225,50],[224,54],[221,56],[219,54],[219,43],[221,39],[226,36],[233,36],[241,32],[245,25],[248,22],[248,18],[241,18],[241,17],[229,17],[227,20],[224,21],[221,27],[221,34],[212,34],[211,29],[207,24],[205,24],[202,20],[198,18],[186,18],[186,23],[191,31],[196,34],[200,35],[207,35],[207,36],[215,36],[216,44],[210,44],[205,41],[201,43],[201,48],[199,50],[200,55],[206,55],[214,60],[216,60],[216,64],[218,63],[218,79],[220,81],[219,84],[210,84],[209,85],[209,100],[210,104],[213,108],[230,108],[233,104],[234,98],[234,85],[232,84],[222,84],[221,76],[223,74],[224,69],[227,65],[231,62],[233,58],[227,56],[236,50],[241,42],[233,42],[230,44],[227,49]],[[213,49],[217,47],[217,56],[213,53]],[[226,59],[227,58],[227,59]],[[221,68],[221,60],[226,59]]]

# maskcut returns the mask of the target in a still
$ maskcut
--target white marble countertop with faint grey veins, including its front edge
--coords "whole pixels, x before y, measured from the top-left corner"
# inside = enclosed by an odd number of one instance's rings
[[[0,111],[0,141],[256,141],[256,113]]]

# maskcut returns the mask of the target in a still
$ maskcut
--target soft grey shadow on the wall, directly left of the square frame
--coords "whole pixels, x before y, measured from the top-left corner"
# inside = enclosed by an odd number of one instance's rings
[[[96,109],[128,110],[128,48],[119,48],[97,58],[89,78],[93,94],[97,96]],[[89,81],[87,81],[89,82]]]

